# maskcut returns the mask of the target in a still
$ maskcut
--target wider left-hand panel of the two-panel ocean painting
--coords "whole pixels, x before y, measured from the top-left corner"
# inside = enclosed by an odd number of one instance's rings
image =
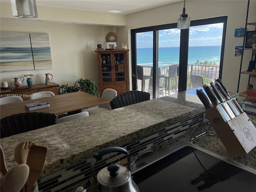
[[[34,70],[29,33],[5,33],[0,36],[0,71]]]

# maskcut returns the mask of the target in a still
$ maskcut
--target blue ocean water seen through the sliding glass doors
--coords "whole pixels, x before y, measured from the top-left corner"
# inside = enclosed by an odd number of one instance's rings
[[[188,64],[195,64],[196,60],[204,62],[220,62],[221,46],[194,46],[188,48]],[[179,47],[159,48],[159,62],[179,63]],[[137,49],[137,64],[152,63],[153,48]]]

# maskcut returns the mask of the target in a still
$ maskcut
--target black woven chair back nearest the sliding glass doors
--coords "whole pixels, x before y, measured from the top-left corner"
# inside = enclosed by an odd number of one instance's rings
[[[150,93],[144,91],[128,91],[121,93],[110,101],[110,106],[112,109],[140,103],[143,101],[150,100]]]

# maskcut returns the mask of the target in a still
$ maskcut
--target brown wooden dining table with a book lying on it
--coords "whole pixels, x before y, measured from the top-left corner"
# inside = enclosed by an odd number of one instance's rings
[[[36,103],[38,101],[46,101],[50,104],[50,107],[30,111],[25,109],[24,104]],[[44,97],[0,105],[0,118],[2,119],[13,114],[26,112],[45,112],[52,114],[62,114],[66,112],[82,110],[84,108],[89,108],[92,106],[97,106],[105,103],[109,103],[109,101],[99,98],[97,96],[93,96],[86,92],[73,92],[55,95],[51,97]]]

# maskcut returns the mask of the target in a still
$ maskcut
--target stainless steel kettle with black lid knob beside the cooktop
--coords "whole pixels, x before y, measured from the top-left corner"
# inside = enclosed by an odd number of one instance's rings
[[[94,164],[102,156],[108,153],[122,153],[127,156],[127,168],[118,164],[111,164],[98,172],[97,178],[94,173]],[[107,147],[96,153],[90,163],[90,169],[96,184],[96,191],[100,192],[139,192],[139,188],[132,180],[131,176],[131,158],[127,150],[121,147]]]

